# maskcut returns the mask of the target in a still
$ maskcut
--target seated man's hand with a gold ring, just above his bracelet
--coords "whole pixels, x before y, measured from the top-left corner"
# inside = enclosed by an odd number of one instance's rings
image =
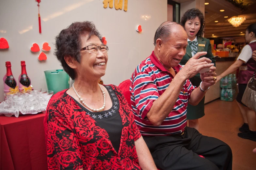
[[[200,74],[200,78],[202,80],[202,89],[206,90],[209,86],[214,85],[214,77],[216,77],[215,73],[216,67],[211,67],[210,71]]]

